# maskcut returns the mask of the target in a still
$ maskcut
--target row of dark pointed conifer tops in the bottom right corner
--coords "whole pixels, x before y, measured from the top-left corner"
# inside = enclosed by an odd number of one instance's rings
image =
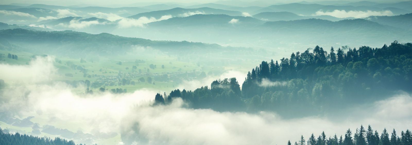
[[[290,140],[287,145],[291,145]],[[361,128],[356,129],[353,136],[350,129],[346,131],[344,136],[339,138],[336,134],[327,138],[325,132],[322,132],[316,138],[312,133],[308,140],[301,136],[300,140],[295,142],[295,145],[412,145],[412,132],[407,129],[398,136],[395,129],[393,129],[391,136],[389,136],[389,132],[384,129],[379,136],[378,131],[374,131],[370,125],[367,130],[361,125]]]

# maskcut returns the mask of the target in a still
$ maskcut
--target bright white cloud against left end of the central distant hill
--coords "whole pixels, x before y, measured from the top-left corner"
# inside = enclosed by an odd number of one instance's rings
[[[154,17],[147,18],[145,16],[140,17],[139,19],[124,18],[121,19],[118,24],[119,28],[131,28],[131,27],[141,27],[144,28],[146,23],[162,21],[172,18],[171,15],[162,16],[160,19]]]

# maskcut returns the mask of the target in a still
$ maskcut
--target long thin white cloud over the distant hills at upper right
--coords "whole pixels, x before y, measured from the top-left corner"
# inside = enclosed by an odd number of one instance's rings
[[[313,16],[320,16],[320,15],[330,15],[330,16],[335,16],[338,18],[347,18],[347,17],[354,17],[354,18],[365,18],[368,16],[393,16],[393,13],[389,10],[386,11],[348,11],[346,12],[345,10],[337,10],[335,9],[332,12],[323,12],[322,10],[319,10]]]

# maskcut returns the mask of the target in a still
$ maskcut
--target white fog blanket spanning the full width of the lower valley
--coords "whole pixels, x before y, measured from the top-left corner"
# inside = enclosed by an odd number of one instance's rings
[[[340,136],[348,128],[354,130],[361,124],[370,124],[379,132],[384,127],[398,132],[412,128],[409,113],[412,96],[404,92],[347,108],[346,113],[337,117],[284,119],[276,112],[190,109],[180,98],[171,105],[151,106],[155,94],[162,91],[148,89],[125,94],[107,91],[86,94],[82,85],[73,88],[63,82],[50,82],[50,76],[57,75],[52,60],[46,57],[34,59],[29,65],[0,64],[0,76],[7,84],[7,89],[0,90],[0,112],[21,118],[34,116],[47,122],[40,125],[55,125],[70,131],[121,132],[122,142],[126,144],[281,145],[287,140],[297,141],[300,135],[308,138],[311,133],[319,135],[322,131],[327,136],[335,133]],[[237,73],[240,72],[229,71],[221,77]],[[245,77],[242,74],[239,82]]]

